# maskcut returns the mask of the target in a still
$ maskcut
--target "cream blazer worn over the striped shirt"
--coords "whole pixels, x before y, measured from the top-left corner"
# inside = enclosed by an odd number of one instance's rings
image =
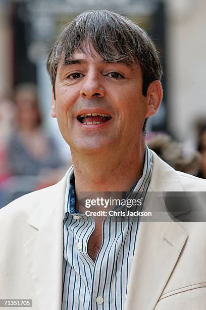
[[[149,191],[206,191],[205,180],[153,158]],[[66,179],[0,210],[0,299],[61,310]],[[206,222],[140,221],[124,310],[153,309],[206,309]]]

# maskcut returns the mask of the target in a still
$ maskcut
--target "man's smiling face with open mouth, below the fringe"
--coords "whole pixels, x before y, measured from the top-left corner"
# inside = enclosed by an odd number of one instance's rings
[[[127,150],[138,144],[150,115],[142,95],[141,67],[105,63],[94,50],[92,55],[76,51],[67,65],[62,57],[52,116],[71,150]]]

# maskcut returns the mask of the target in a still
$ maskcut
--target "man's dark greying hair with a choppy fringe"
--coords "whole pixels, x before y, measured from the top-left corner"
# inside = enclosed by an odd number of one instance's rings
[[[66,63],[74,51],[91,53],[90,46],[105,62],[140,64],[144,96],[151,82],[161,80],[162,66],[159,53],[143,29],[117,13],[107,10],[87,11],[64,26],[49,51],[46,69],[53,85],[54,95],[57,66],[61,56],[64,55]]]

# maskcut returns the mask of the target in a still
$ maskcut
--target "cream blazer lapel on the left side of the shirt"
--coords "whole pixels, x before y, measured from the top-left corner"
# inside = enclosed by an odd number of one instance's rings
[[[63,215],[67,175],[53,187],[53,191],[44,189],[45,196],[41,194],[41,203],[28,221],[35,230],[33,229],[33,237],[24,245],[24,251],[39,310],[61,309]]]

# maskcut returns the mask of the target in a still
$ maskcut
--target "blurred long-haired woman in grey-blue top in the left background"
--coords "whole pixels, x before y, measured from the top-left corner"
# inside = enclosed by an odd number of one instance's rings
[[[35,85],[18,86],[14,98],[17,118],[8,146],[10,171],[14,176],[40,176],[40,182],[54,184],[62,176],[64,163],[53,138],[41,128]]]

